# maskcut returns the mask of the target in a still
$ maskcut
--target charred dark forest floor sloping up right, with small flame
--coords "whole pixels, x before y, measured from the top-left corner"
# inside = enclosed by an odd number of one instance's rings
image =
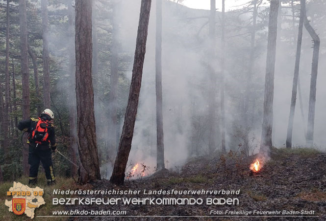
[[[138,165],[143,167],[146,163]],[[131,170],[134,167],[131,168]],[[132,171],[131,171],[132,172]],[[141,172],[141,170],[140,170]],[[129,173],[130,175],[130,173]],[[89,184],[88,184],[89,185]],[[238,198],[238,205],[70,205],[67,210],[124,210],[138,217],[71,217],[69,220],[219,220],[285,221],[326,220],[326,154],[314,149],[276,149],[269,158],[228,152],[214,157],[191,159],[182,168],[166,169],[150,176],[126,179],[116,186],[102,179],[89,186],[93,190],[141,190],[138,195],[92,195],[94,198]],[[145,190],[240,190],[239,195],[144,195]],[[78,196],[76,196],[78,197]],[[81,196],[79,196],[81,197]],[[218,216],[210,211],[315,211],[319,217],[189,217]],[[147,217],[139,217],[147,216]],[[179,216],[179,217],[148,217]],[[187,217],[186,217],[187,216]],[[223,215],[221,215],[223,216]],[[230,215],[232,216],[232,215]],[[233,215],[234,216],[234,215]],[[251,214],[252,216],[252,214]],[[291,215],[288,215],[291,216]],[[305,216],[305,215],[298,215]],[[309,215],[306,215],[309,216]]]

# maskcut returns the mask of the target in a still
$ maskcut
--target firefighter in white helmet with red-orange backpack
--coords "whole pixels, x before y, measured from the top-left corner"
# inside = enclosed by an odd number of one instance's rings
[[[17,125],[19,130],[28,133],[28,164],[30,165],[28,184],[37,184],[40,161],[45,170],[48,185],[55,183],[51,158],[51,150],[56,151],[53,119],[53,112],[46,109],[40,117],[22,120]]]

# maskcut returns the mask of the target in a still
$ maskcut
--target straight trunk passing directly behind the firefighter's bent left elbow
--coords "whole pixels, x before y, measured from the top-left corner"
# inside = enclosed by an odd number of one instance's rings
[[[28,71],[28,52],[27,52],[27,20],[25,0],[19,0],[19,24],[21,32],[21,72],[22,72],[22,93],[23,93],[23,119],[30,117],[29,112],[29,71]],[[27,134],[23,136],[23,174],[29,173],[28,148],[26,147]]]

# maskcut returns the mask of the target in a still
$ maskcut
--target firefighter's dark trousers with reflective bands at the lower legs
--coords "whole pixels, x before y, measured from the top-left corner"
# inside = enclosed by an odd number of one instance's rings
[[[45,176],[47,177],[47,181],[53,182],[55,180],[52,158],[51,158],[51,150],[49,147],[37,147],[29,145],[29,153],[28,153],[28,164],[29,168],[29,183],[36,184],[37,183],[37,174],[40,166],[40,161],[42,162],[43,168],[45,170]]]

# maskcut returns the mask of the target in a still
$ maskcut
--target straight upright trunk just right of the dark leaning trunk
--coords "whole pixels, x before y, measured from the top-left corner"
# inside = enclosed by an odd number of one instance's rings
[[[156,163],[157,170],[162,170],[165,168],[162,99],[162,0],[156,0],[155,91],[157,141]]]

